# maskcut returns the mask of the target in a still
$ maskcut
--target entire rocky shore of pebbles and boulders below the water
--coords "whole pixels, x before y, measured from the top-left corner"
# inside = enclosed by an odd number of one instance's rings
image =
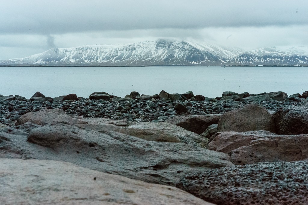
[[[307,204],[307,97],[0,95],[0,201]]]

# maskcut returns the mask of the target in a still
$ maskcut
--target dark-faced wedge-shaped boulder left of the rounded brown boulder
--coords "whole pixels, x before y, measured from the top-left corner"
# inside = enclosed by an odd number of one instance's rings
[[[192,115],[192,116],[179,116],[165,120],[165,122],[175,124],[188,131],[195,132],[200,135],[211,124],[217,124],[221,114],[214,115]]]

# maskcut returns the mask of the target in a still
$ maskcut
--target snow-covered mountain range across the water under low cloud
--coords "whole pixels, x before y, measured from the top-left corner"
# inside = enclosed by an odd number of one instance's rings
[[[307,65],[308,48],[239,48],[209,43],[158,39],[126,45],[86,45],[53,48],[0,65],[151,66],[151,65]]]

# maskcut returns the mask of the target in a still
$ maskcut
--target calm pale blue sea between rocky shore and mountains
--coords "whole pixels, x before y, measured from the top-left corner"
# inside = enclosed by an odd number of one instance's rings
[[[58,97],[75,93],[89,97],[104,91],[125,97],[131,91],[221,96],[224,91],[251,94],[308,90],[308,67],[0,67],[0,94],[26,98],[39,91]]]

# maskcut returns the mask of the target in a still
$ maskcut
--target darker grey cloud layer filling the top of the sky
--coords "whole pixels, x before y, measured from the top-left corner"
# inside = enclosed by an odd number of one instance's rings
[[[307,7],[306,0],[12,0],[1,5],[0,33],[302,25]]]

